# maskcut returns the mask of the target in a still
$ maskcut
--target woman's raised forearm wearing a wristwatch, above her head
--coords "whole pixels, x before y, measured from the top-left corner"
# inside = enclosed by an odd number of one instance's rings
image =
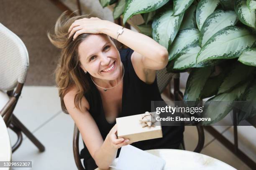
[[[122,28],[122,26],[107,20],[103,20],[103,22],[104,23],[102,25],[104,26],[102,27],[102,33],[116,39],[118,35],[117,31],[118,29]],[[118,36],[118,41],[140,53],[141,55],[158,62],[158,56],[161,58],[161,56],[166,55],[166,53],[168,54],[166,48],[157,43],[151,37],[127,28],[123,28],[123,30],[123,33]]]

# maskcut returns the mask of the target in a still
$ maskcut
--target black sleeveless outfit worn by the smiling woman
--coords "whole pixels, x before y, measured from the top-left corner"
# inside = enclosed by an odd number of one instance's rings
[[[131,55],[133,53],[131,48],[119,50],[119,53],[125,73],[123,77],[122,112],[118,117],[142,114],[146,111],[151,112],[151,101],[163,101],[157,86],[157,80],[155,79],[153,84],[148,85],[139,79],[131,62]],[[89,82],[90,90],[85,93],[84,96],[90,104],[89,112],[99,128],[103,140],[105,140],[116,122],[110,124],[106,120],[100,92],[97,90],[91,79],[89,79]],[[183,132],[183,125],[162,126],[163,138],[143,140],[132,143],[131,145],[141,150],[161,148],[178,149],[183,139]],[[118,149],[117,157],[119,153],[120,148]],[[97,168],[97,165],[85,144],[80,155],[84,158],[84,167],[86,170],[94,170]]]

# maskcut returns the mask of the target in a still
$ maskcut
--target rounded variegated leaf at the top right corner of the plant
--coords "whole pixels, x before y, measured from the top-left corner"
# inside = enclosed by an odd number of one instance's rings
[[[252,10],[250,12],[249,8],[246,5],[246,0],[236,0],[235,2],[235,11],[238,15],[239,20],[252,28],[256,28],[256,11]]]

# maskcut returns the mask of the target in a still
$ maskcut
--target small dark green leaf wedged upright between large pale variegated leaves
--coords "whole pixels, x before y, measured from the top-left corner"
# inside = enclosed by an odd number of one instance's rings
[[[197,23],[195,20],[195,10],[197,7],[195,5],[190,5],[190,7],[184,13],[182,24],[179,30],[184,30],[187,28],[197,28]]]

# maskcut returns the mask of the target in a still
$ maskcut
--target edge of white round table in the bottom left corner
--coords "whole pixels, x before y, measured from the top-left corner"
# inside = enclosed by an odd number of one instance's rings
[[[12,147],[10,143],[10,137],[3,120],[0,115],[0,161],[11,161],[12,160]],[[1,170],[9,170],[10,168],[0,168]]]

